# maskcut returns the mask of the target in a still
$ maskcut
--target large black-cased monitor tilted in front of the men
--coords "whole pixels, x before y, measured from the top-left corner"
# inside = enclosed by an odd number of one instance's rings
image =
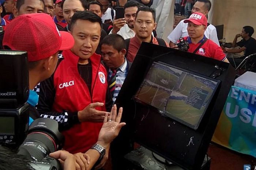
[[[133,139],[186,170],[200,169],[235,76],[228,63],[143,42],[116,99],[127,124],[114,141],[118,152]]]

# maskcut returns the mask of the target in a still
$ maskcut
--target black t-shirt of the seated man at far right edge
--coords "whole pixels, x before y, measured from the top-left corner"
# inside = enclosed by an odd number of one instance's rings
[[[237,42],[237,45],[241,48],[246,48],[246,50],[244,50],[245,56],[256,53],[256,40],[252,37],[250,37],[247,41],[245,41],[245,39],[242,39],[241,41]]]

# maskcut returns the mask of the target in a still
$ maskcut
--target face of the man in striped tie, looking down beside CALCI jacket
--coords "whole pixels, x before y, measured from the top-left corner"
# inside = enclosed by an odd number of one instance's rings
[[[112,45],[101,45],[101,56],[105,65],[110,68],[118,68],[124,63],[125,50],[118,52]]]

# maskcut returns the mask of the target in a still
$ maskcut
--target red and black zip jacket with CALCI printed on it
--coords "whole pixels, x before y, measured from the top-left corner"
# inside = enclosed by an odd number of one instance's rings
[[[91,93],[84,80],[78,72],[79,57],[70,50],[63,51],[64,60],[62,60],[54,75],[52,76],[52,84],[54,86],[54,101],[48,98],[47,89],[48,83],[42,82],[39,93],[38,111],[41,117],[49,117],[59,121],[59,124],[69,119],[68,130],[62,133],[65,136],[64,149],[72,154],[77,152],[86,152],[98,139],[98,134],[102,123],[94,122],[76,122],[72,116],[77,116],[79,110],[83,110],[87,105],[94,102],[105,103],[106,92],[108,90],[107,74],[105,67],[101,64],[101,57],[98,54],[93,54],[90,57],[92,65],[92,83]],[[52,101],[52,112],[47,112],[45,103]],[[49,109],[49,106],[47,106]],[[97,110],[105,111],[105,105]],[[66,112],[67,111],[67,112]],[[67,129],[67,128],[64,128]]]

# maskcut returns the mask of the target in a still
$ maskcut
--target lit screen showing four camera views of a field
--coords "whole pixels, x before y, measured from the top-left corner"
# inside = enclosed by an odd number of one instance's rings
[[[134,98],[197,129],[218,85],[219,80],[154,62]]]

